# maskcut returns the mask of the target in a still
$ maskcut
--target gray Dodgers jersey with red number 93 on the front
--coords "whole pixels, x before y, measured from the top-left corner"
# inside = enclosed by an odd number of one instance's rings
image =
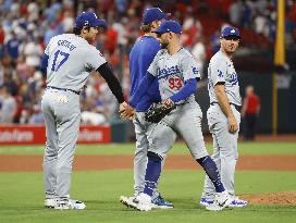
[[[161,99],[165,100],[176,94],[187,79],[200,77],[197,67],[195,59],[184,48],[172,55],[166,49],[162,49],[155,57],[148,72],[158,78]],[[195,101],[194,94],[186,101]]]

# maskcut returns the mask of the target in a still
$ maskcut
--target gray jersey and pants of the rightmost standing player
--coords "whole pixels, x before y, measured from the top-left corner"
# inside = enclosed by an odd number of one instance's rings
[[[231,103],[232,112],[238,123],[240,123],[240,113],[234,106],[240,106],[239,86],[237,74],[232,61],[221,51],[217,52],[210,60],[208,69],[209,77],[209,97],[210,102],[218,102],[213,86],[221,82],[225,85],[225,92]],[[237,138],[238,129],[232,134],[229,132],[229,120],[218,103],[212,103],[207,111],[209,131],[213,138],[212,160],[221,175],[221,181],[230,195],[235,198],[234,191],[234,172],[238,158]],[[202,197],[213,199],[215,195],[214,186],[206,175]]]

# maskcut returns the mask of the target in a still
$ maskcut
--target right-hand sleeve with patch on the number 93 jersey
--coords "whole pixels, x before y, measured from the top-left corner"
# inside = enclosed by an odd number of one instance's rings
[[[186,53],[186,57],[181,60],[181,67],[185,82],[192,78],[200,78],[197,62],[189,53]]]

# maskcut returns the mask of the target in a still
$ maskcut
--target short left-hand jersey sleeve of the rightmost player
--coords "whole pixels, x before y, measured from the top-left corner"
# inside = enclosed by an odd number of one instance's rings
[[[215,60],[210,63],[210,75],[212,78],[213,86],[217,85],[217,83],[225,83],[226,71],[227,71],[226,61]]]

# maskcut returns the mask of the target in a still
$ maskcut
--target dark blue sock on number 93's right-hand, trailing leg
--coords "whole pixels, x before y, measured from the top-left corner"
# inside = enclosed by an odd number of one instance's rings
[[[202,169],[208,174],[209,178],[213,183],[215,191],[217,193],[224,191],[225,188],[221,182],[221,177],[220,177],[220,174],[219,174],[219,171],[217,169],[214,161],[209,156],[197,159],[196,161],[202,166]]]

